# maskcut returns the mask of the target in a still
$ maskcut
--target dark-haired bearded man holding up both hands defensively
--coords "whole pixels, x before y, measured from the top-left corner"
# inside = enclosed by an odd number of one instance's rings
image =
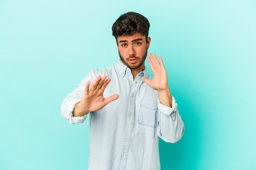
[[[61,105],[70,124],[90,113],[90,170],[160,170],[158,137],[174,143],[183,135],[161,57],[148,54],[152,79],[144,66],[148,30],[144,16],[121,15],[112,26],[121,60],[91,70]]]

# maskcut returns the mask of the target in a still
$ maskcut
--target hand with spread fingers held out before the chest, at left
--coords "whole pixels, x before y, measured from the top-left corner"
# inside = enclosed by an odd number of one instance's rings
[[[103,98],[103,92],[110,82],[110,78],[106,78],[107,76],[97,76],[90,89],[90,81],[86,83],[81,101],[75,105],[74,116],[83,116],[89,112],[98,111],[119,97],[118,94],[114,94]]]

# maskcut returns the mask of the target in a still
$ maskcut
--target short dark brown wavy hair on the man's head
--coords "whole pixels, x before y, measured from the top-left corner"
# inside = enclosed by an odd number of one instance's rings
[[[120,15],[112,26],[112,35],[117,39],[122,35],[130,36],[141,33],[148,38],[149,22],[139,13],[128,12]]]

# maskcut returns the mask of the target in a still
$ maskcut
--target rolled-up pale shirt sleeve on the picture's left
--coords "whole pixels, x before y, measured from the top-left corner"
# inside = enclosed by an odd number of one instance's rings
[[[87,118],[88,114],[83,116],[73,116],[73,111],[76,103],[81,101],[85,84],[90,81],[91,84],[96,78],[97,70],[93,69],[91,70],[90,74],[83,78],[81,83],[74,89],[70,94],[67,95],[67,97],[63,100],[61,104],[61,115],[64,119],[68,120],[70,124],[77,124],[77,123],[83,123],[85,119]]]

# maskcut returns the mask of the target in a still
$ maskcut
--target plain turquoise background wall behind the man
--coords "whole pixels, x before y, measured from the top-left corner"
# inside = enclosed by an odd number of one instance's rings
[[[1,170],[87,169],[88,122],[61,102],[119,59],[111,27],[128,11],[148,18],[185,124],[160,140],[162,170],[256,169],[255,0],[0,0]]]

